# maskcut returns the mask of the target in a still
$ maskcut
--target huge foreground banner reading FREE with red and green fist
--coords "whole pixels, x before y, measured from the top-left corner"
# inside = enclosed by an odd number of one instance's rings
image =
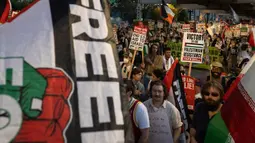
[[[0,25],[1,143],[124,142],[106,0],[40,0]]]

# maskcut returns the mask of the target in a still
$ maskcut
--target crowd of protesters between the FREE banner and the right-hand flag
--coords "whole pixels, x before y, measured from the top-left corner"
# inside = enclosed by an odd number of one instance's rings
[[[126,142],[181,143],[181,115],[162,81],[174,61],[178,60],[171,55],[172,47],[169,47],[167,42],[182,42],[182,32],[178,32],[176,28],[149,31],[143,53],[138,51],[136,55],[129,49],[132,28],[119,28],[117,35],[122,78],[130,99],[132,130],[127,133],[129,137]],[[252,56],[248,37],[223,38],[222,34],[210,36],[209,33],[205,33],[204,37],[207,46],[218,48],[223,58],[211,63],[207,81],[196,81],[196,107],[191,115],[190,132],[186,133],[187,143],[204,142],[210,119],[224,104],[224,93]],[[133,56],[135,58],[132,65]],[[181,66],[181,74],[186,73],[186,68]],[[162,122],[166,120],[169,123],[167,128],[159,127],[162,132],[168,133],[169,137],[155,136],[155,125],[161,122],[152,120],[155,116],[161,118]]]

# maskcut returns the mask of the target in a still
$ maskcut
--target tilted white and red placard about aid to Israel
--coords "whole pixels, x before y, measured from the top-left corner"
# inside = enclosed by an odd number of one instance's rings
[[[146,40],[147,29],[135,26],[129,49],[143,51],[143,46]]]

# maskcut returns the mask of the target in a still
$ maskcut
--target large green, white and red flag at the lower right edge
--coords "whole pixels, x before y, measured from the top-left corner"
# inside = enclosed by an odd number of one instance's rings
[[[254,143],[255,141],[255,56],[224,96],[221,112],[207,128],[205,143]]]

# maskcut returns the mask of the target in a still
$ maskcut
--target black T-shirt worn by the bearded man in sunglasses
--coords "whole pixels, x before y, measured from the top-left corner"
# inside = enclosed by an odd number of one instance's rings
[[[205,103],[198,103],[195,108],[192,122],[192,127],[196,130],[195,138],[198,143],[204,143],[209,121],[210,119]]]

